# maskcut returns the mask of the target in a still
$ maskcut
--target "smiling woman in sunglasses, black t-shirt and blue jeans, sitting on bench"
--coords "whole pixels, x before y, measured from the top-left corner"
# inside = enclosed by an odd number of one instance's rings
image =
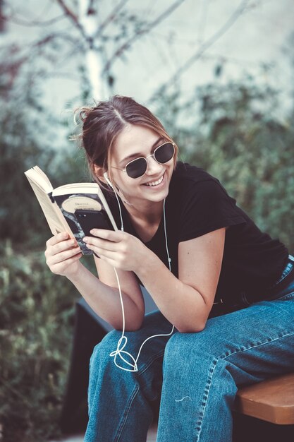
[[[99,279],[66,233],[47,241],[51,271],[115,328],[92,354],[85,441],[145,441],[161,396],[157,441],[228,442],[238,386],[293,369],[294,258],[217,179],[176,161],[148,109],[116,96],[80,115],[93,177],[124,229],[84,239]],[[146,317],[140,283],[159,309]]]

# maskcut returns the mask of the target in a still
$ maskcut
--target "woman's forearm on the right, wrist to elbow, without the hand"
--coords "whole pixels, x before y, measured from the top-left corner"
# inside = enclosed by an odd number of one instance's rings
[[[152,251],[136,273],[161,313],[180,332],[204,328],[208,308],[200,292],[178,280]]]

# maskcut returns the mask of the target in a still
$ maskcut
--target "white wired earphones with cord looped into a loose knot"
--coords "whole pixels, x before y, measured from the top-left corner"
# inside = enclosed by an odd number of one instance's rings
[[[118,208],[119,208],[119,214],[120,214],[120,217],[121,217],[121,231],[123,232],[123,215],[121,213],[121,203],[119,202],[118,196],[116,194],[116,190],[114,189],[114,186],[111,184],[111,181],[110,181],[107,173],[104,172],[103,176],[104,176],[104,179],[105,179],[106,183],[109,184],[109,186],[111,186],[111,188],[114,190],[114,193],[116,195],[116,200],[118,202]],[[165,205],[166,205],[166,200],[164,199],[164,238],[165,238],[165,242],[166,242],[166,254],[167,254],[168,263],[169,263],[169,271],[171,271],[171,258],[169,256],[169,246],[168,246],[167,235],[166,235],[166,210],[165,210]],[[121,285],[120,285],[120,282],[119,282],[119,279],[118,279],[118,274],[116,272],[116,268],[115,267],[114,267],[114,273],[116,274],[116,281],[118,283],[118,292],[119,292],[119,297],[120,297],[120,300],[121,300],[121,311],[122,311],[122,314],[123,314],[123,330],[122,330],[122,333],[121,333],[121,338],[118,340],[116,350],[114,350],[114,352],[111,352],[109,354],[109,356],[114,357],[114,364],[116,364],[118,369],[125,370],[125,371],[137,371],[138,370],[137,369],[137,360],[140,357],[140,352],[142,350],[143,345],[145,345],[145,342],[147,342],[147,340],[149,340],[149,339],[157,338],[159,336],[170,336],[170,335],[172,335],[173,334],[173,330],[174,330],[174,325],[173,325],[173,327],[171,329],[171,333],[152,335],[152,336],[149,336],[149,338],[145,339],[145,341],[142,343],[142,345],[140,347],[139,352],[137,353],[137,357],[136,358],[133,357],[133,355],[130,354],[129,352],[125,352],[125,350],[123,350],[123,349],[125,348],[125,345],[127,345],[127,343],[128,343],[128,338],[126,338],[126,336],[125,336],[125,311],[124,311],[124,307],[123,307],[123,296],[121,294]],[[125,357],[123,357],[123,354],[125,356],[129,357],[132,362],[128,362],[125,359]],[[116,362],[116,358],[117,357],[120,357],[121,360],[123,362],[125,362],[125,364],[130,366],[130,369],[126,369],[125,367],[118,365],[118,363]]]

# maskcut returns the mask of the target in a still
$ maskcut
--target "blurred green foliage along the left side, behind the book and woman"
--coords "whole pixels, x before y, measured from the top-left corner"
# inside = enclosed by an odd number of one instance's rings
[[[0,129],[0,424],[6,442],[44,442],[60,435],[78,293],[45,264],[51,233],[23,172],[39,165],[53,186],[90,176],[36,90],[0,107]]]

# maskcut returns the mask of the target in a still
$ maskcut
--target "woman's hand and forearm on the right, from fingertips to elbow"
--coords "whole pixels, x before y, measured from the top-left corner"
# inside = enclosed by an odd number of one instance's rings
[[[93,229],[97,237],[85,241],[109,265],[131,271],[139,277],[160,311],[181,332],[195,332],[204,328],[209,306],[195,284],[185,284],[175,277],[145,244],[126,232]],[[208,266],[205,265],[207,269]],[[191,269],[193,272],[194,270]],[[189,278],[188,278],[189,280]],[[212,298],[213,289],[209,289]]]

